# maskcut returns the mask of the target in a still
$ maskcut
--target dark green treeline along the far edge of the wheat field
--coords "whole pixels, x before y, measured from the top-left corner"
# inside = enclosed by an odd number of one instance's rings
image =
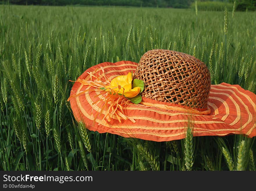
[[[4,0],[2,3],[19,5],[95,5],[95,6],[137,6],[137,7],[171,7],[189,8],[195,0]],[[199,1],[224,1],[224,0],[198,0]],[[226,2],[233,3],[234,0]],[[256,0],[236,0],[237,10],[255,10]]]

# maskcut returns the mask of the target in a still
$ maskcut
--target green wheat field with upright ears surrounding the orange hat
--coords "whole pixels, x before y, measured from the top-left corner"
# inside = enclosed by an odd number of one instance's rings
[[[153,142],[87,131],[67,102],[87,68],[169,49],[212,84],[256,92],[256,14],[168,8],[0,7],[0,170],[253,170],[255,138]],[[188,132],[188,135],[191,132]]]

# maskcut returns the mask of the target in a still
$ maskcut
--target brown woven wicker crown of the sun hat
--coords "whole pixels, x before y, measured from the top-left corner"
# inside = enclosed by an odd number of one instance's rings
[[[134,78],[144,81],[143,97],[207,108],[210,72],[202,61],[189,54],[162,49],[147,51]]]

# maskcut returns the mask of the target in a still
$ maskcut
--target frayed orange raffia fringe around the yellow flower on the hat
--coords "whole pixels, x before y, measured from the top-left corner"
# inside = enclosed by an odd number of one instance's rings
[[[127,105],[127,103],[130,102],[130,100],[125,98],[123,95],[116,94],[116,92],[113,91],[114,88],[118,88],[118,91],[119,91],[121,87],[114,87],[111,89],[104,89],[104,90],[100,89],[100,88],[104,88],[105,86],[109,86],[110,81],[109,79],[106,78],[104,74],[104,69],[102,67],[101,67],[102,76],[104,77],[105,81],[102,81],[97,75],[93,75],[93,73],[97,74],[97,70],[98,68],[95,69],[94,72],[88,72],[88,74],[90,75],[90,80],[78,79],[77,81],[72,81],[72,82],[79,82],[84,86],[88,86],[89,88],[87,88],[82,92],[79,92],[78,94],[71,95],[67,99],[67,101],[69,101],[70,98],[79,97],[85,92],[95,91],[98,94],[101,94],[104,98],[99,99],[98,101],[93,103],[93,104],[96,104],[101,102],[99,105],[99,110],[97,111],[97,114],[94,117],[94,122],[96,121],[98,116],[103,116],[102,120],[106,119],[107,121],[111,121],[111,118],[115,116],[115,118],[118,119],[119,123],[121,123],[121,119],[129,119],[130,121],[135,123],[136,121],[133,118],[126,116],[123,112],[123,108]],[[94,89],[90,89],[91,87],[93,87]],[[103,114],[103,111],[105,111],[105,114]]]

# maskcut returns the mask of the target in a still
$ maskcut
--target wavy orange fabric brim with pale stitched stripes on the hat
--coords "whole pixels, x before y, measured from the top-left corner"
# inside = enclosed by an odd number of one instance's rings
[[[104,62],[83,72],[80,79],[88,79],[88,72],[103,68],[106,77],[113,79],[128,72],[135,72],[137,63],[120,61]],[[98,74],[102,70],[98,70]],[[79,82],[75,82],[71,95],[86,90]],[[225,136],[228,134],[245,134],[256,136],[256,95],[244,90],[239,85],[221,83],[211,85],[208,106],[209,115],[196,115],[189,112],[163,110],[152,106],[132,104],[124,108],[125,115],[136,122],[121,119],[121,123],[113,117],[110,121],[96,118],[100,103],[95,103],[99,95],[95,91],[87,91],[78,97],[70,97],[70,105],[77,121],[83,121],[89,130],[99,133],[109,132],[122,137],[134,137],[151,141],[172,141],[183,139],[188,127],[193,128],[194,136]]]

